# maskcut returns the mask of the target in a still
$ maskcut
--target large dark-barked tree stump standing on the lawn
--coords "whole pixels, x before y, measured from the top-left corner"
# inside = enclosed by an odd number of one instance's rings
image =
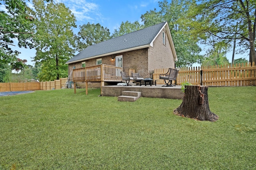
[[[216,121],[219,118],[210,111],[208,86],[186,86],[182,104],[174,109],[174,114],[200,121]]]

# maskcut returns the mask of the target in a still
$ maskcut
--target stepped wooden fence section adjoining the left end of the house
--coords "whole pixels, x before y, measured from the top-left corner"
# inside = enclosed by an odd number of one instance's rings
[[[66,83],[68,78],[60,78],[60,80],[48,81],[48,82],[40,82],[40,90],[52,90],[61,89]]]

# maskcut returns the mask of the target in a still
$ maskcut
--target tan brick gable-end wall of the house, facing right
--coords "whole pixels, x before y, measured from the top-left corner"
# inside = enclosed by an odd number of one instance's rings
[[[150,47],[148,50],[148,70],[174,68],[174,66],[174,57],[168,36],[166,34],[166,45],[164,45],[161,31],[158,37],[156,37],[153,47]]]

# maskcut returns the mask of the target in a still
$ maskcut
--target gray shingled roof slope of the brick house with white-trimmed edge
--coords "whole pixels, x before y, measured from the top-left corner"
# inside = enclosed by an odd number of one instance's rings
[[[151,27],[140,29],[132,33],[91,45],[75,55],[66,63],[74,63],[75,61],[81,61],[82,59],[89,57],[104,55],[113,53],[115,51],[140,47],[143,45],[149,45],[165,24],[166,22],[162,22]]]

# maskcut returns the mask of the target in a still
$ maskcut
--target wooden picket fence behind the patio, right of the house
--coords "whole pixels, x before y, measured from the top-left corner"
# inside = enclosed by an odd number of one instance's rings
[[[158,84],[164,84],[164,80],[159,80],[159,74],[164,74],[168,68],[155,69],[153,79],[158,80]],[[177,85],[184,82],[205,86],[255,86],[256,85],[256,65],[253,62],[246,64],[208,66],[208,67],[184,67],[179,68]]]

